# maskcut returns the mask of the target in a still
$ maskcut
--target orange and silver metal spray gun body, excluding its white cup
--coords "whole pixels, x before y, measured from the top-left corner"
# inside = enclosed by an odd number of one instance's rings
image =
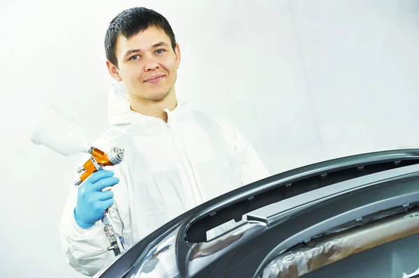
[[[117,147],[111,148],[108,153],[104,153],[98,148],[91,147],[89,148],[89,153],[91,154],[89,160],[87,160],[87,162],[85,162],[83,166],[77,170],[78,173],[81,173],[81,176],[78,180],[75,181],[74,185],[76,186],[80,185],[80,183],[89,178],[92,173],[101,171],[103,167],[114,166],[124,160],[124,149]],[[112,225],[110,225],[108,217],[106,217],[107,213],[110,214],[109,209],[110,207],[105,210],[105,214],[102,217],[102,222],[105,224],[103,230],[105,231],[106,237],[110,242],[110,247],[108,247],[108,250],[112,250],[115,256],[117,256],[121,253],[121,251],[119,250],[119,246],[117,244],[117,235],[115,234]],[[112,217],[112,215],[110,215],[110,217]]]

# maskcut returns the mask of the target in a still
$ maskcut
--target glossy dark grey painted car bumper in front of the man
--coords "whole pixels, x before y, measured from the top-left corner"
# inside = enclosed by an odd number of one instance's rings
[[[176,240],[158,256],[172,252],[167,260],[175,260],[178,268],[173,277],[257,277],[275,256],[304,238],[374,210],[419,201],[417,163],[417,149],[390,150],[279,173],[173,219],[96,277],[124,277],[128,272],[126,277],[142,277],[134,274],[170,235]],[[247,223],[206,242],[203,231],[243,215]]]

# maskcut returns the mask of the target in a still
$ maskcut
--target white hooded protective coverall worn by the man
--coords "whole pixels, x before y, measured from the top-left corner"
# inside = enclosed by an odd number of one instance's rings
[[[110,129],[94,146],[124,148],[121,164],[106,167],[119,183],[112,187],[111,224],[132,247],[163,224],[216,196],[270,176],[253,147],[228,121],[215,120],[178,100],[168,122],[130,109],[125,88],[112,84]],[[89,159],[84,155],[80,165]],[[78,176],[75,176],[78,179]],[[92,276],[115,260],[103,223],[82,229],[73,218],[78,187],[71,192],[59,225],[68,263]],[[119,246],[121,242],[119,242]]]

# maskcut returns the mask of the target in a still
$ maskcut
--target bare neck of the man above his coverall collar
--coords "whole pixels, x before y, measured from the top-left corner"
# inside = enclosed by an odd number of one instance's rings
[[[131,110],[145,116],[154,116],[161,118],[167,123],[168,114],[164,109],[172,111],[177,106],[175,89],[173,88],[165,98],[161,100],[150,100],[147,98],[139,98],[136,95],[129,95]]]

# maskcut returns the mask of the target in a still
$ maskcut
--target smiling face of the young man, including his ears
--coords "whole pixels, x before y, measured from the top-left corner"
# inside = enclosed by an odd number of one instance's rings
[[[122,81],[131,97],[163,100],[173,93],[180,63],[179,45],[173,51],[164,31],[150,27],[129,40],[119,36],[118,68],[107,62],[112,77]]]

